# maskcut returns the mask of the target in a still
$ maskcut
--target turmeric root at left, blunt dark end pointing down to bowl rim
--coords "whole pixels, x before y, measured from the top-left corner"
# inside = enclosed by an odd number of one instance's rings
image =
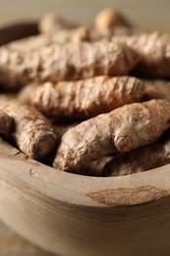
[[[39,112],[7,96],[0,96],[0,110],[14,119],[13,138],[28,157],[41,160],[56,148],[58,135]]]

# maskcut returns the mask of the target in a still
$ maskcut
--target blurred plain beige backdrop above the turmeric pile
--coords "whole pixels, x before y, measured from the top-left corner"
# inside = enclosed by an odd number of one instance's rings
[[[0,20],[38,18],[55,11],[89,23],[106,6],[121,10],[139,26],[170,32],[170,0],[0,0]]]

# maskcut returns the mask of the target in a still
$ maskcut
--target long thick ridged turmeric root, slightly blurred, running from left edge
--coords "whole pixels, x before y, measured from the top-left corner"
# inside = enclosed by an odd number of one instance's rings
[[[17,90],[30,82],[53,83],[99,75],[126,75],[138,55],[112,41],[72,42],[42,47],[32,52],[0,48],[1,88]]]

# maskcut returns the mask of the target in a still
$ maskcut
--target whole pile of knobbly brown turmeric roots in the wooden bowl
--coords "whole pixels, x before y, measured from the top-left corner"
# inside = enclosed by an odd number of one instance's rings
[[[102,10],[48,14],[0,47],[0,133],[56,170],[119,176],[170,163],[170,35]]]

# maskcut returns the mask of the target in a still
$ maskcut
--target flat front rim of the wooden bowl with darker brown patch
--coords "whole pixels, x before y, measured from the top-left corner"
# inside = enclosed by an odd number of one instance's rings
[[[82,207],[132,207],[170,196],[170,164],[126,176],[91,177],[31,160],[3,140],[0,173],[3,182],[23,186],[30,197],[39,193],[45,200]]]

